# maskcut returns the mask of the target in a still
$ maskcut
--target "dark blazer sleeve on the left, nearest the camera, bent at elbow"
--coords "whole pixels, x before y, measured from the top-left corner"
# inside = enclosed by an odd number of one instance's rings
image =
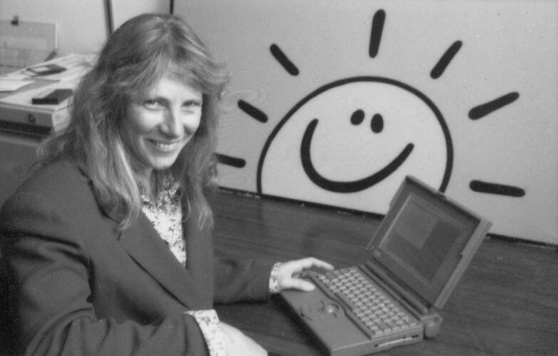
[[[9,268],[9,308],[24,355],[207,355],[190,315],[141,325],[98,318],[79,234],[36,194],[18,194],[0,214]]]

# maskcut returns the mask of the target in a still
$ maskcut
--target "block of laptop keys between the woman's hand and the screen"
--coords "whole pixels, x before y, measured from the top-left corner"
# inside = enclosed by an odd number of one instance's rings
[[[317,276],[334,295],[343,300],[369,336],[381,336],[419,325],[376,283],[363,276],[356,267],[342,268]]]

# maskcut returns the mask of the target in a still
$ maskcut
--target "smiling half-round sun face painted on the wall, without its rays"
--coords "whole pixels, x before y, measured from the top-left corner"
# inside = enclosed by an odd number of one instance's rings
[[[452,161],[448,128],[428,97],[388,78],[348,78],[307,95],[274,128],[257,188],[384,214],[405,175],[443,192]]]

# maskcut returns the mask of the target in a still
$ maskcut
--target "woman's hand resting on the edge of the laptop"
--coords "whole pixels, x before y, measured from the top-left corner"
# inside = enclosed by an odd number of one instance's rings
[[[302,278],[297,278],[298,273],[308,268],[323,268],[327,271],[334,269],[331,264],[321,261],[314,257],[302,258],[301,260],[283,262],[277,268],[277,283],[279,290],[298,289],[305,292],[314,290],[316,286],[313,283]]]

